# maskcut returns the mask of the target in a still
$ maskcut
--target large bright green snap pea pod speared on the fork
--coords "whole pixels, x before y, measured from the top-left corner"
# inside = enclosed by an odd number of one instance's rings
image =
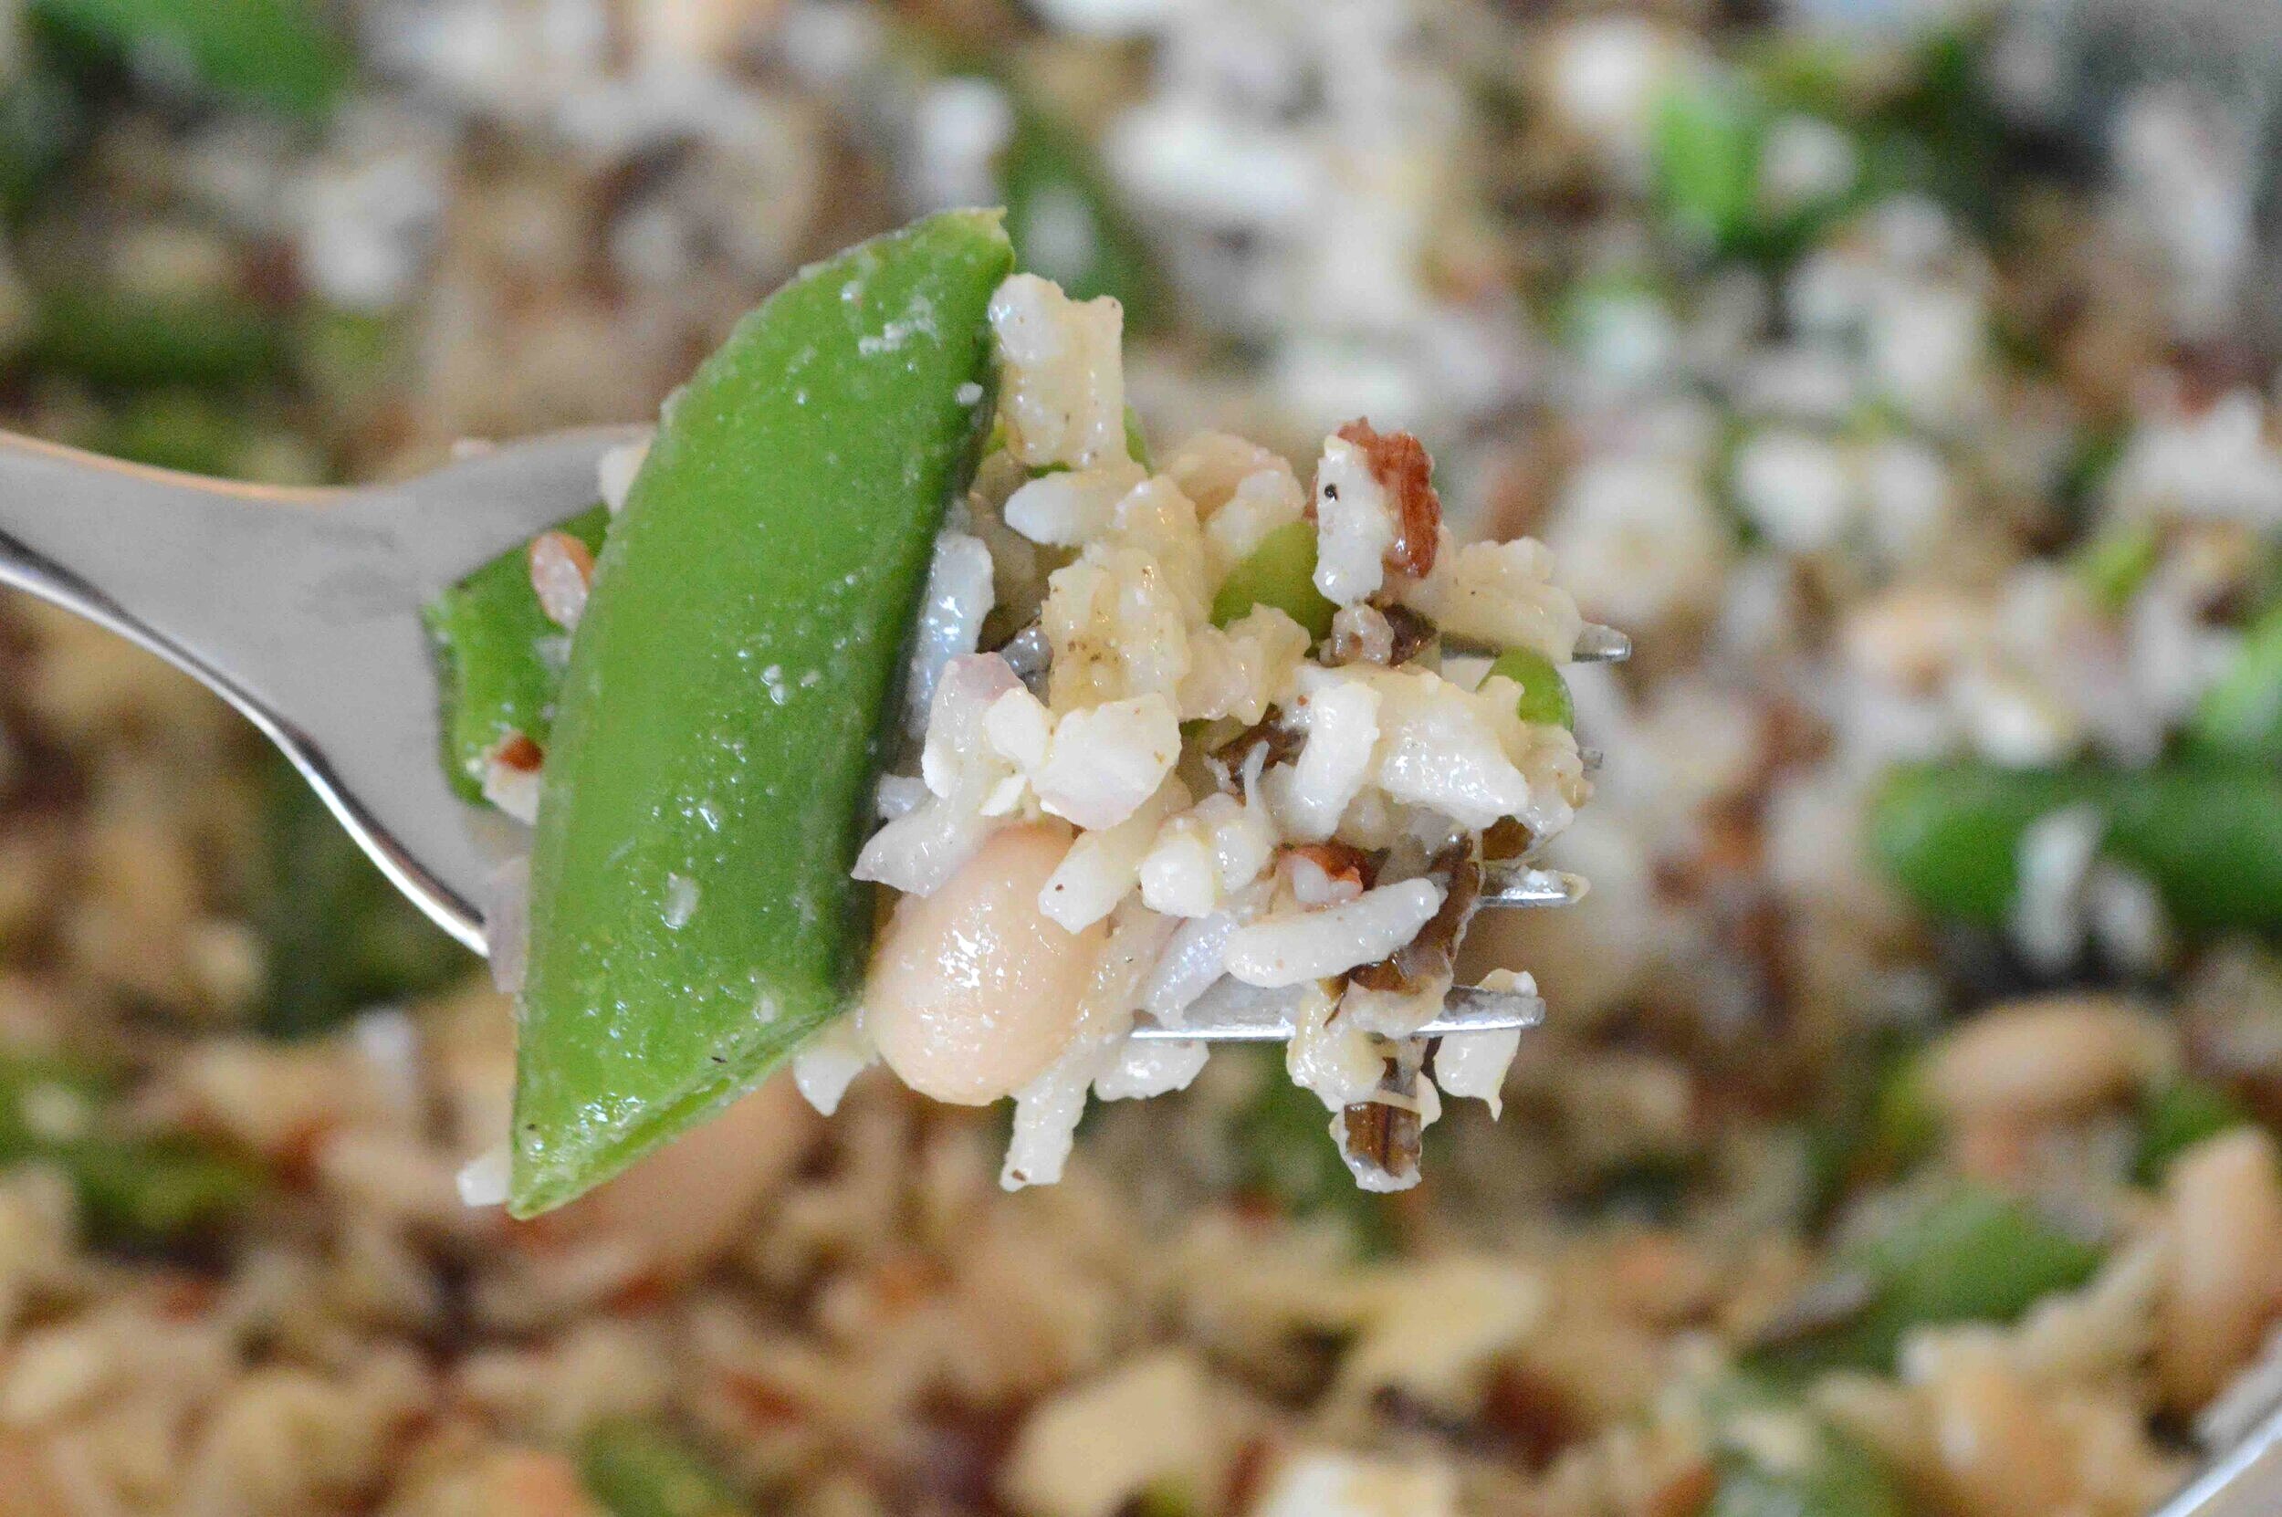
[[[509,1207],[703,1120],[844,1011],[849,878],[990,408],[993,212],[812,265],[666,406],[570,646],[532,855]]]

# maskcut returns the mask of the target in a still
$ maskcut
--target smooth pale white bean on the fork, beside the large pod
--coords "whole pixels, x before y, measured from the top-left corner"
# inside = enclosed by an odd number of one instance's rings
[[[872,956],[865,1027],[906,1086],[986,1106],[1070,1040],[1107,928],[1070,933],[1038,910],[1068,851],[1066,828],[1006,828],[942,890],[897,903]]]

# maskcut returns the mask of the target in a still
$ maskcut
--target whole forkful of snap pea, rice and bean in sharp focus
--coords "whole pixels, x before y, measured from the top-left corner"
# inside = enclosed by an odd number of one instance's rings
[[[1456,545],[1360,417],[1312,479],[1223,433],[1152,468],[1120,306],[1011,265],[945,212],[806,269],[609,463],[607,529],[438,605],[454,782],[536,821],[518,1214],[785,1058],[826,1111],[872,1061],[1013,1097],[1002,1184],[1052,1182],[1089,1093],[1205,1065],[1136,1022],[1207,1008],[1289,1022],[1365,1189],[1495,1106],[1515,1029],[1417,1033],[1483,867],[1591,792],[1549,554]]]

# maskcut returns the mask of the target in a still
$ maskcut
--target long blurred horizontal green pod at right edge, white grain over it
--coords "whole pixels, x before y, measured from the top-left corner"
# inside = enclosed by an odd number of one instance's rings
[[[2109,821],[2102,846],[2154,883],[2179,926],[2282,928],[2282,773],[2259,764],[1903,766],[1871,808],[1871,855],[1926,912],[2001,926],[2020,835],[2083,803]]]

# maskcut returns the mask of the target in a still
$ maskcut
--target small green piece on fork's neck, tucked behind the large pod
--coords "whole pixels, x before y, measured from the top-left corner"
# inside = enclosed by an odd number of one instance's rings
[[[589,552],[602,550],[609,511],[566,520]],[[424,611],[443,662],[443,766],[452,789],[484,798],[484,766],[511,732],[541,748],[555,730],[555,698],[570,659],[570,634],[539,609],[525,547],[502,552]]]

